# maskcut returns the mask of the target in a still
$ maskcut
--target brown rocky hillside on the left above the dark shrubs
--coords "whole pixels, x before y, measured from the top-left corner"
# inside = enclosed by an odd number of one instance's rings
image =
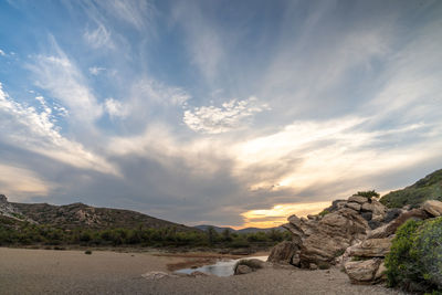
[[[152,218],[122,209],[95,208],[83,203],[53,206],[48,203],[13,203],[0,194],[0,215],[60,229],[86,228],[94,230],[173,226],[178,231],[194,231],[183,224]]]

